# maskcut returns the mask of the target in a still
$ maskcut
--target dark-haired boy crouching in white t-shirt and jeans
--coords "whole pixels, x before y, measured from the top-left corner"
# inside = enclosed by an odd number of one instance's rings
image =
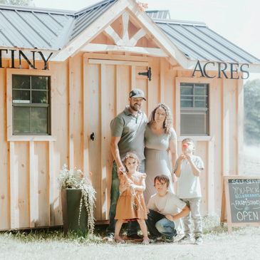
[[[150,197],[147,208],[147,228],[151,241],[157,241],[164,236],[165,241],[172,242],[177,236],[175,224],[178,219],[189,214],[189,207],[175,194],[168,192],[170,180],[166,175],[155,177],[156,194]],[[181,209],[178,213],[177,209]]]

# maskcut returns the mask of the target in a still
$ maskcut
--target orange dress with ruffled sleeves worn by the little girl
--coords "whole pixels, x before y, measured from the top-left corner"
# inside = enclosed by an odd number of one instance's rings
[[[145,174],[135,172],[133,175],[128,175],[128,178],[136,185],[142,185],[142,180],[145,179]],[[128,180],[124,175],[120,176],[120,186],[124,185]],[[135,220],[147,219],[147,210],[145,207],[145,199],[143,193],[130,188],[120,194],[115,212],[115,219]]]

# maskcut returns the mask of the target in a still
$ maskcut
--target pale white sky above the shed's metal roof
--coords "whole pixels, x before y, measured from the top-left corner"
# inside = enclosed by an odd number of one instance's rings
[[[33,0],[37,7],[78,11],[100,0]],[[170,10],[171,19],[203,21],[224,38],[260,59],[259,0],[141,0],[148,10]],[[250,73],[249,80],[260,78]]]

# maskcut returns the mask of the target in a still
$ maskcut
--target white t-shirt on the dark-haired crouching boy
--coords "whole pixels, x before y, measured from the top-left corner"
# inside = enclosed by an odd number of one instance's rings
[[[178,209],[183,209],[185,206],[186,203],[172,192],[167,192],[163,197],[157,193],[153,194],[147,204],[148,209],[155,210],[163,215],[175,214],[178,212]]]

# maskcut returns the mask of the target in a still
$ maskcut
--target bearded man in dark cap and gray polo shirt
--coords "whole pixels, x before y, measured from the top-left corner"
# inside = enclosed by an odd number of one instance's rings
[[[110,150],[114,162],[112,169],[112,183],[110,193],[110,224],[108,226],[108,240],[113,239],[115,232],[115,209],[119,197],[118,174],[125,170],[123,159],[128,152],[135,152],[140,160],[139,172],[145,172],[145,126],[147,116],[140,109],[145,99],[145,93],[135,88],[129,93],[129,105],[110,123]],[[137,236],[137,222],[128,224],[128,237],[139,239]]]

